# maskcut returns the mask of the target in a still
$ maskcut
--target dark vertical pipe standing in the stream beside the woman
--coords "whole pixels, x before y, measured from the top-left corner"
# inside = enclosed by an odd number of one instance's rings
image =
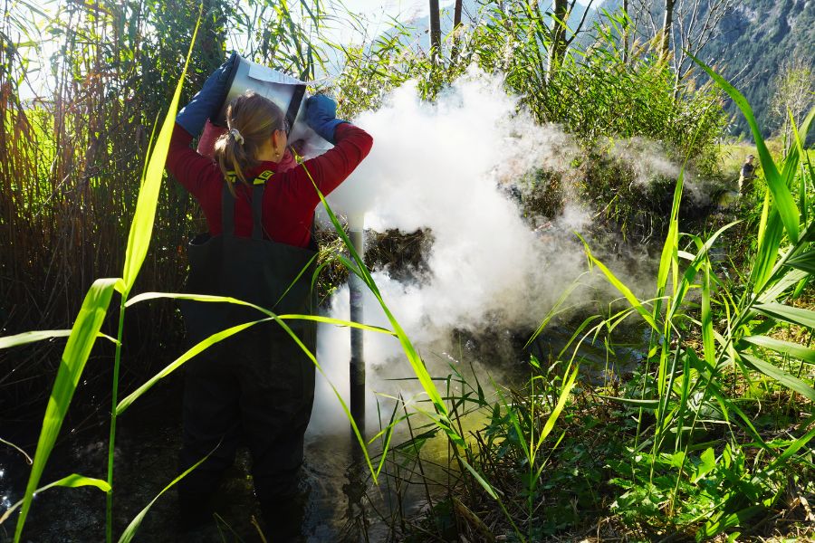
[[[350,224],[350,242],[360,258],[365,255],[365,238],[362,224]],[[364,284],[360,277],[351,272],[349,274],[350,291],[350,319],[353,322],[362,322],[362,291]],[[350,412],[357,422],[360,433],[365,435],[365,358],[362,350],[362,330],[352,328],[351,332],[351,359],[350,359]]]

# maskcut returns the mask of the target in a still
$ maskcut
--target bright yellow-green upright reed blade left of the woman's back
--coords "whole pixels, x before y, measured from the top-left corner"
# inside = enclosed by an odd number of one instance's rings
[[[187,77],[187,67],[189,66],[189,59],[192,56],[193,45],[196,43],[198,25],[200,23],[201,17],[199,14],[196,29],[193,32],[192,42],[189,44],[187,61],[184,62],[184,69],[181,71],[181,77],[176,85],[173,100],[170,101],[167,117],[165,117],[164,123],[161,125],[161,130],[158,132],[158,140],[150,155],[148,167],[144,172],[144,178],[141,180],[139,200],[136,202],[136,213],[133,215],[133,222],[130,224],[128,248],[125,252],[124,270],[122,271],[122,279],[124,280],[124,290],[122,294],[125,298],[127,298],[130,289],[133,288],[136,277],[139,275],[141,264],[147,256],[150,239],[153,235],[158,194],[161,190],[161,179],[164,176],[164,164],[167,161],[169,141],[173,135],[173,128],[176,124],[178,100],[181,99],[181,88],[184,84],[184,79]]]

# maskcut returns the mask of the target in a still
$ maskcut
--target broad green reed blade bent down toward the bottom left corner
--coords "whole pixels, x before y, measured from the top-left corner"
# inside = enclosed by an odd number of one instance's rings
[[[71,405],[73,392],[82,376],[85,363],[91,355],[91,348],[99,335],[102,321],[110,305],[110,298],[113,295],[113,288],[117,284],[120,284],[118,279],[93,281],[91,289],[82,302],[79,315],[73,322],[68,343],[62,351],[62,362],[51,390],[51,397],[45,408],[40,438],[34,453],[34,464],[25,487],[23,509],[20,510],[20,517],[17,519],[17,527],[14,530],[14,543],[18,543],[22,537],[25,518],[28,516],[28,510],[31,509],[31,500],[37,483],[43,476],[45,462],[48,462],[57,434],[60,433],[62,421],[68,412],[68,405]]]

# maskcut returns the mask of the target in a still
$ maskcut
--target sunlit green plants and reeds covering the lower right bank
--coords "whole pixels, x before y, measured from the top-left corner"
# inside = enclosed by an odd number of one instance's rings
[[[703,69],[755,126],[738,91]],[[423,459],[420,451],[437,430],[412,426],[411,439],[386,452],[388,472],[396,489],[424,487],[427,505],[417,517],[401,506],[391,511],[394,538],[421,540],[430,533],[493,540],[512,532],[519,540],[541,540],[570,530],[594,533],[607,524],[649,540],[723,533],[732,540],[772,527],[795,509],[810,533],[815,177],[803,135],[813,119],[815,110],[796,129],[795,150],[780,162],[755,129],[762,167],[772,178],[752,231],[753,252],[734,257],[743,271],[712,255],[735,223],[707,237],[681,233],[680,176],[652,298],[635,295],[586,243],[592,267],[620,293],[618,303],[575,323],[565,348],[548,360],[532,358],[523,386],[495,386],[491,396],[477,377],[465,378],[451,366],[445,399],[454,424],[470,428],[460,434],[473,443],[465,454],[477,477],[455,462]],[[569,294],[532,340],[545,333]],[[631,320],[647,334],[642,361],[628,377],[617,373],[624,368],[615,336]],[[590,375],[575,385],[571,368],[581,346],[599,339],[608,349],[609,373],[599,385]],[[484,422],[474,428],[468,417]],[[547,434],[552,417],[560,417],[558,430]],[[482,480],[492,492],[479,491]]]

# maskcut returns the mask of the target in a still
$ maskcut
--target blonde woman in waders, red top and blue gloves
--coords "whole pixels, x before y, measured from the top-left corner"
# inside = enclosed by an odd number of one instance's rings
[[[306,102],[306,120],[335,147],[295,165],[283,111],[249,91],[227,109],[228,130],[216,141],[215,160],[199,155],[190,143],[207,118],[216,118],[234,62],[236,55],[178,113],[170,143],[167,169],[196,198],[208,226],[188,248],[187,291],[232,296],[277,314],[310,313],[312,222],[320,203],[314,185],[323,195],[331,193],[368,155],[372,139],[335,119],[333,100],[314,96]],[[193,345],[265,317],[243,306],[194,301],[185,302],[182,312]],[[315,352],[314,323],[288,324]],[[268,535],[275,541],[300,535],[297,473],[313,395],[312,361],[273,321],[226,338],[187,363],[181,468],[212,453],[179,482],[182,530],[212,521],[210,499],[238,443],[245,443]]]

